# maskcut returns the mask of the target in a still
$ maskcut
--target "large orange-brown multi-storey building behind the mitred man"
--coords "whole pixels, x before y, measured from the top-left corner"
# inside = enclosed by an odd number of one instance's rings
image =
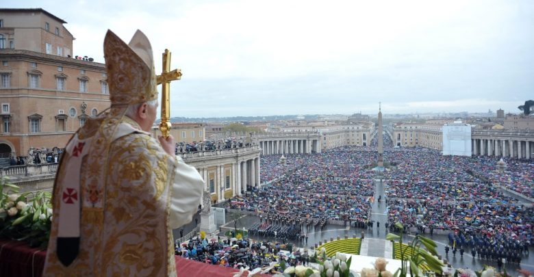
[[[0,9],[0,156],[62,148],[110,106],[104,64],[71,57],[64,24],[40,8]]]

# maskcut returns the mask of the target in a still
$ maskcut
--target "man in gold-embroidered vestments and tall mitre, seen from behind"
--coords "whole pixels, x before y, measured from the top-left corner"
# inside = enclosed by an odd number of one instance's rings
[[[66,146],[43,276],[176,276],[172,229],[192,220],[204,181],[147,132],[153,118],[128,116],[133,105],[155,117],[146,36],[125,44],[108,31],[104,53],[112,107]]]

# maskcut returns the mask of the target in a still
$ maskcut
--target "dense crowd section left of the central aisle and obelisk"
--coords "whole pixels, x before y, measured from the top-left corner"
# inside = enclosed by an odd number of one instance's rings
[[[278,163],[280,157],[263,156],[260,163],[262,182],[272,183],[233,198],[227,207],[296,224],[304,233],[310,226],[324,228],[328,220],[367,222],[374,195],[369,155],[349,150],[292,154],[285,166]]]

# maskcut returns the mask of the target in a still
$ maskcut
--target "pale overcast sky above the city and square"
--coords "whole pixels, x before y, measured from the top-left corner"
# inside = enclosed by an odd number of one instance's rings
[[[172,3],[175,2],[175,3]],[[64,19],[103,62],[112,29],[173,53],[171,116],[519,112],[534,98],[534,1],[3,1]]]

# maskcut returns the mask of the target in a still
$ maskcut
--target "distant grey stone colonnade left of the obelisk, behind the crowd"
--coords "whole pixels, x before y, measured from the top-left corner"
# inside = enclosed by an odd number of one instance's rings
[[[266,140],[259,142],[262,155],[320,153],[319,140]]]

